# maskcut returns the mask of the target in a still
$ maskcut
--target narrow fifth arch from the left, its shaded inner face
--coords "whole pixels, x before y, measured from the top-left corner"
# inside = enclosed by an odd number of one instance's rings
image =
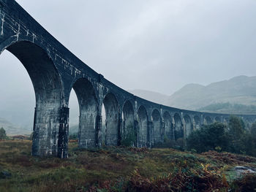
[[[148,112],[141,105],[138,109],[138,147],[146,147],[149,142]]]

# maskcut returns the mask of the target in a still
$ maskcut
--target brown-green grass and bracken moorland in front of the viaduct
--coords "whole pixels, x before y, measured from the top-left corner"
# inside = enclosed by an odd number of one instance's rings
[[[235,166],[256,158],[210,151],[105,147],[69,158],[35,158],[31,141],[0,141],[0,191],[256,191],[256,176],[236,179]]]

